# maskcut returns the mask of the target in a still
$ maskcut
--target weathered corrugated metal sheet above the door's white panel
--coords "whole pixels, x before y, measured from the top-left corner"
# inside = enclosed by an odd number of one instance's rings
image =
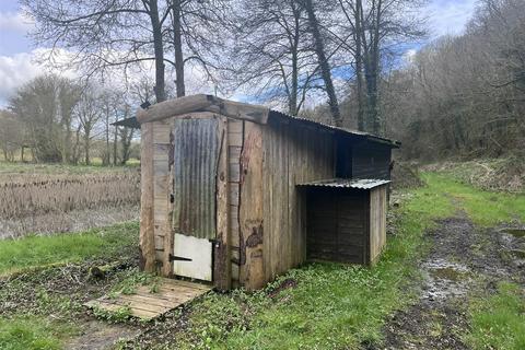
[[[176,119],[173,128],[173,225],[176,233],[215,237],[219,122]]]

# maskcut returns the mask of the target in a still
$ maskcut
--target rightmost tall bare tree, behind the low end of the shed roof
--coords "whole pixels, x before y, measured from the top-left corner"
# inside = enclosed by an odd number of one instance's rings
[[[338,0],[346,19],[342,31],[353,33],[352,45],[343,45],[355,62],[358,127],[382,133],[378,83],[384,66],[398,56],[399,46],[424,36],[424,19],[416,15],[424,1]],[[338,40],[347,37],[339,34]],[[364,75],[364,81],[363,81]],[[363,91],[364,90],[364,91]],[[365,102],[364,96],[366,97]],[[366,118],[364,117],[366,115]]]

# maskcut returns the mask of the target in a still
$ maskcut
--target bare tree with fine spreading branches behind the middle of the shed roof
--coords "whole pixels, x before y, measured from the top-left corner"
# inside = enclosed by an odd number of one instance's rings
[[[304,10],[296,0],[241,1],[237,10],[223,77],[233,89],[249,89],[299,114],[318,78]]]

